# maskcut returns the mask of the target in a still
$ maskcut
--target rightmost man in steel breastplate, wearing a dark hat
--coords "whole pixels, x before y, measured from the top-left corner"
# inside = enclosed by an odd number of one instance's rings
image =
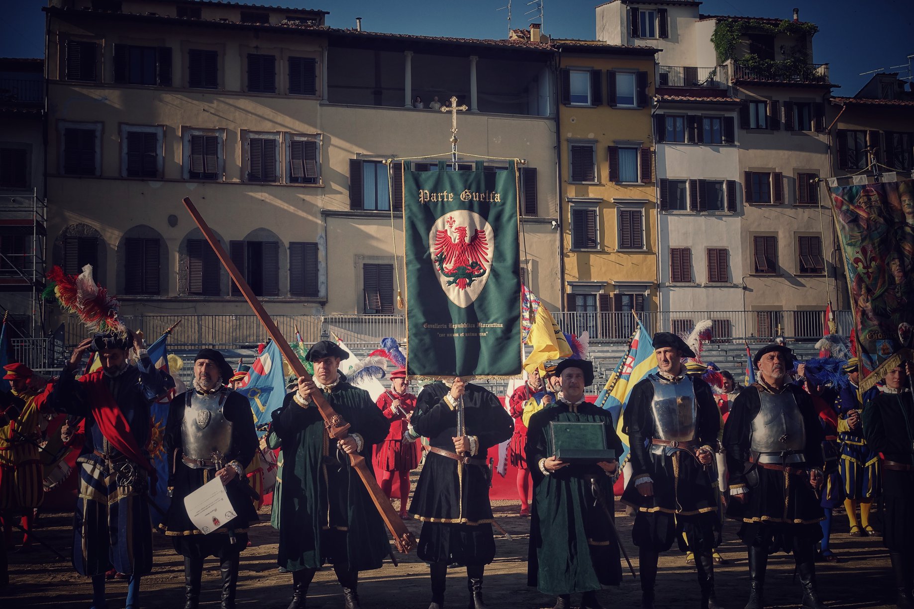
[[[740,520],[749,548],[749,604],[764,607],[768,555],[793,552],[802,583],[802,606],[822,609],[815,589],[815,543],[822,539],[824,431],[809,394],[790,383],[792,352],[762,347],[753,358],[758,382],[739,393],[724,425],[730,501],[727,516]]]

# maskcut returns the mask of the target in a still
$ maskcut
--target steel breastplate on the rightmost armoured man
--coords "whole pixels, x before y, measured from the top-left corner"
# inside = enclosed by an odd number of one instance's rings
[[[792,392],[784,391],[780,394],[771,394],[759,391],[761,408],[751,423],[751,441],[749,446],[753,452],[783,455],[784,453],[799,453],[805,448],[806,428],[803,424],[800,407]],[[795,457],[802,457],[797,455]],[[762,463],[770,459],[760,458]],[[802,460],[783,459],[785,461]]]

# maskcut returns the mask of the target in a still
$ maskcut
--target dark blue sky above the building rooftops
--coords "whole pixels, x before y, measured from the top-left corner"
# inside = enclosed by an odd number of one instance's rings
[[[532,7],[515,0],[513,27],[529,21],[524,13]],[[557,37],[593,38],[593,7],[599,0],[544,0],[544,31]],[[327,25],[362,26],[379,32],[501,38],[507,33],[507,11],[497,9],[507,0],[265,0],[279,4],[330,11]],[[0,57],[42,57],[44,14],[41,0],[11,0],[6,3],[0,26]],[[257,4],[257,3],[246,3]],[[869,76],[860,72],[907,64],[914,54],[914,5],[910,0],[705,0],[701,12],[713,15],[771,16],[791,18],[794,7],[800,18],[819,26],[813,38],[816,63],[830,63],[832,81],[842,85],[836,95],[853,95]],[[906,42],[907,41],[907,42]],[[896,68],[907,76],[907,68]]]

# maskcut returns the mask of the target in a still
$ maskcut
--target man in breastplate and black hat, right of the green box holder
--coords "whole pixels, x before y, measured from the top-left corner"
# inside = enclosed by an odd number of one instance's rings
[[[654,354],[657,372],[634,386],[622,414],[632,461],[622,501],[638,510],[632,541],[639,551],[642,607],[654,607],[659,552],[679,539],[680,550],[695,554],[702,609],[715,609],[717,488],[709,466],[720,413],[708,384],[686,373],[682,358],[696,355],[685,341],[657,332]]]

